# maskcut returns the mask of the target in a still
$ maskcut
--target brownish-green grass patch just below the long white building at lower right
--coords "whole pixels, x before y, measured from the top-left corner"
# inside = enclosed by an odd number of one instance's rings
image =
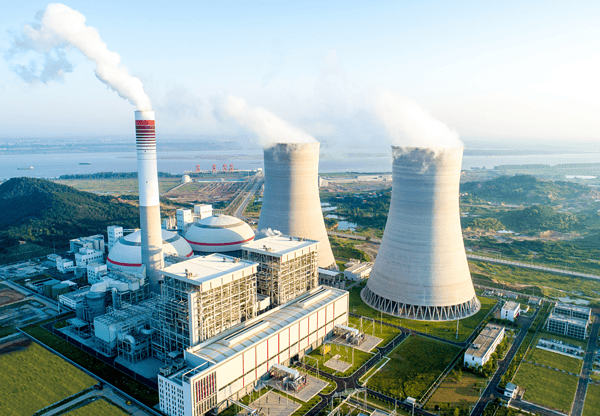
[[[485,378],[463,372],[460,381],[448,375],[427,402],[427,409],[434,410],[439,405],[442,414],[450,414],[458,406],[468,406],[479,400],[479,389],[485,387]],[[444,410],[447,410],[444,412]]]

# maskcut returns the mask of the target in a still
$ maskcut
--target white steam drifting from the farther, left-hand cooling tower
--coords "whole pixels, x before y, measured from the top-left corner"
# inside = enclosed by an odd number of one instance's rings
[[[246,100],[230,95],[224,104],[229,117],[237,120],[242,126],[254,131],[264,147],[276,143],[315,143],[317,140],[308,133],[293,127],[261,107],[249,107]]]

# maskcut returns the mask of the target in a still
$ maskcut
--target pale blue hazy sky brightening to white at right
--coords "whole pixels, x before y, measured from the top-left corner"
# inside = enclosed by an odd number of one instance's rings
[[[126,137],[135,108],[79,51],[62,80],[27,83],[15,35],[49,3],[0,14],[0,143]],[[141,79],[163,137],[230,136],[230,95],[326,145],[379,148],[381,91],[420,105],[462,139],[531,144],[600,140],[597,1],[70,1]],[[258,143],[258,141],[256,141]],[[584,147],[583,147],[584,148]]]

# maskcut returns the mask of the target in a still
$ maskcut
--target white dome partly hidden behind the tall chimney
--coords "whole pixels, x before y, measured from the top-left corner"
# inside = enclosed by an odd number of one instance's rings
[[[172,231],[161,230],[163,238],[163,254],[179,257],[190,257],[192,248],[185,238]],[[140,267],[142,265],[142,234],[135,231],[121,237],[108,253],[107,263],[113,266]]]

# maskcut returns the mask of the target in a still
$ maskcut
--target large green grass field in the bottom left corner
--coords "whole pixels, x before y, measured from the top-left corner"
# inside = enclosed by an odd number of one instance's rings
[[[92,377],[36,343],[0,355],[3,415],[32,415],[96,383]]]

